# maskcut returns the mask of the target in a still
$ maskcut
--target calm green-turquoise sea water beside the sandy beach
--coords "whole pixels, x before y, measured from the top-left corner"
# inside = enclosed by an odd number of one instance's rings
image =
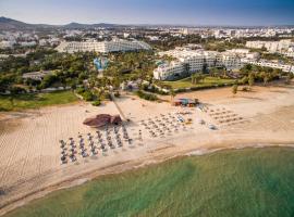
[[[61,190],[7,217],[283,216],[294,214],[294,151],[182,157]]]

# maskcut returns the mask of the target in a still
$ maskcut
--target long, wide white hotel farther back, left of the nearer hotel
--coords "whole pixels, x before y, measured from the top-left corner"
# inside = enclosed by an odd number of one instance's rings
[[[96,51],[100,53],[109,53],[117,51],[136,51],[136,50],[150,50],[151,47],[144,41],[128,41],[128,40],[112,40],[112,41],[72,41],[72,42],[61,42],[56,50],[59,52],[86,52]]]

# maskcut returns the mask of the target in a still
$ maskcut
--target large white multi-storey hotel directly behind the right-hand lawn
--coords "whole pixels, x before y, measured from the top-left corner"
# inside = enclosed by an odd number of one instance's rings
[[[207,68],[224,66],[228,71],[238,69],[243,66],[240,58],[230,52],[219,53],[216,51],[175,49],[160,52],[159,55],[170,55],[175,58],[176,61],[159,65],[154,71],[154,78],[158,80],[185,77],[192,73],[203,71],[205,66]]]

